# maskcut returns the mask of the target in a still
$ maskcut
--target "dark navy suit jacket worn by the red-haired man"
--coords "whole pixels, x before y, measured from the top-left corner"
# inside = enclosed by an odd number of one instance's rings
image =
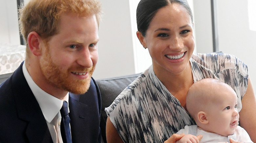
[[[46,120],[24,77],[22,65],[0,85],[0,142],[52,143]],[[73,143],[100,143],[101,98],[93,78],[85,94],[69,94],[69,110]]]

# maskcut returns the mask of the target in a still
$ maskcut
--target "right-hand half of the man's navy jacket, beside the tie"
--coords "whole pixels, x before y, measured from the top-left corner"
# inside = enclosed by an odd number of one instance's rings
[[[86,93],[69,94],[69,117],[73,143],[100,142],[100,108],[100,93],[93,78]]]

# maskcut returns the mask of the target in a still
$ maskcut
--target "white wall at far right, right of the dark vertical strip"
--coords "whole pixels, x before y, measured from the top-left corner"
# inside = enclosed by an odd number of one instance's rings
[[[247,64],[249,76],[256,91],[256,31],[249,29],[248,1],[218,0],[217,6],[219,49],[224,53],[237,56]]]

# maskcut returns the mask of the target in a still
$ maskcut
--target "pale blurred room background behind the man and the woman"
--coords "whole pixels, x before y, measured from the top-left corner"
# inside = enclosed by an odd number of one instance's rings
[[[24,60],[17,6],[28,0],[0,0],[0,75],[11,74]],[[147,69],[152,61],[136,36],[139,0],[101,0],[99,60],[95,79]],[[194,14],[197,53],[222,51],[245,62],[256,90],[256,0],[188,0]]]

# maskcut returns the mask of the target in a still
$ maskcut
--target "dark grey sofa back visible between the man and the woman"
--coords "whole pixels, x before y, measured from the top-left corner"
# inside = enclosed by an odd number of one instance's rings
[[[140,73],[96,80],[99,86],[102,101],[100,121],[100,129],[102,135],[101,143],[107,143],[107,114],[104,109],[108,107],[116,99],[119,93],[121,93],[123,89],[132,83],[139,75]]]

